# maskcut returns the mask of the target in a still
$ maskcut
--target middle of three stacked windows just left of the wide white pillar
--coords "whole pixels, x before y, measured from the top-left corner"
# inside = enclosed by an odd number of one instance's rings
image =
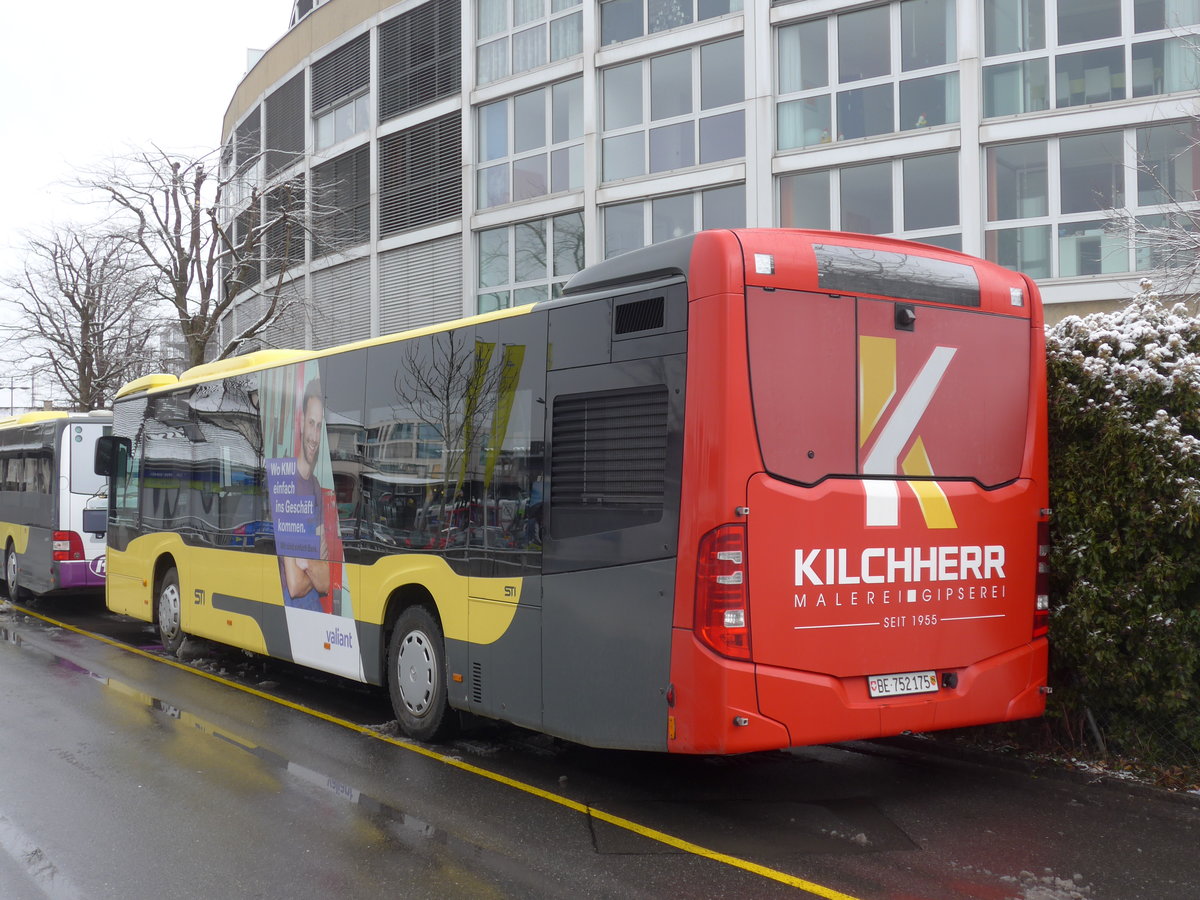
[[[605,70],[601,180],[745,156],[743,41]]]

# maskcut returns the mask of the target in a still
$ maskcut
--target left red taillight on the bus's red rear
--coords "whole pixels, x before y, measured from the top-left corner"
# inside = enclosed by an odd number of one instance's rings
[[[726,524],[700,540],[696,560],[697,637],[722,656],[750,659],[746,529]]]

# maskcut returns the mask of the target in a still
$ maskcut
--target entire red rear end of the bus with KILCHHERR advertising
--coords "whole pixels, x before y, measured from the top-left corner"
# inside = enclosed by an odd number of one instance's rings
[[[1034,284],[853,234],[708,232],[691,259],[668,749],[1039,715]]]

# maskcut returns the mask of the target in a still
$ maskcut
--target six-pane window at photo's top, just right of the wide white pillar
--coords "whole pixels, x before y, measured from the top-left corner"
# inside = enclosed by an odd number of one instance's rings
[[[905,0],[778,29],[778,149],[958,122],[956,35],[952,0]]]

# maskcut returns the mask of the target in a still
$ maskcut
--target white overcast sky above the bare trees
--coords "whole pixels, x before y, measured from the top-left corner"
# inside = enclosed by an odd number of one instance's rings
[[[151,143],[217,146],[247,49],[290,13],[292,0],[0,0],[0,274],[19,268],[22,230],[95,215],[66,199],[76,169]]]

